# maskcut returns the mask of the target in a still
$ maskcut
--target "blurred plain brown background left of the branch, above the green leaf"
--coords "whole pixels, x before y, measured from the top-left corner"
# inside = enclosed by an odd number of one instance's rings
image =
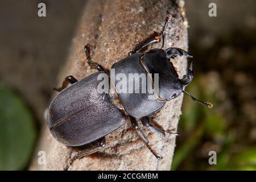
[[[40,2],[46,3],[46,17],[38,16]],[[84,3],[82,0],[0,2],[0,83],[22,97],[38,129],[40,122],[45,122],[44,111],[67,58]],[[1,111],[0,114],[3,115]],[[10,129],[12,132],[14,129]],[[6,169],[20,169],[9,167]]]

